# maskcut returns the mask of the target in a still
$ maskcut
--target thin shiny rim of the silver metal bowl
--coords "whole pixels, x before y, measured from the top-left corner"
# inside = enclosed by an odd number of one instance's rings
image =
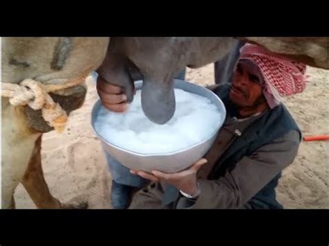
[[[211,91],[210,89],[208,88],[205,88],[201,85],[196,85],[192,82],[187,82],[186,80],[174,80],[175,84],[176,82],[178,83],[187,83],[189,85],[193,85],[193,86],[196,86],[196,87],[201,87],[202,89],[206,89],[208,90],[211,94],[213,94],[213,96],[215,96],[215,98],[217,98],[217,100],[219,100],[219,103],[221,104],[222,106],[222,109],[223,109],[223,117],[221,118],[221,121],[219,122],[219,129],[223,126],[223,123],[225,121],[225,118],[226,118],[226,107],[225,105],[223,104],[223,101],[221,100],[221,98],[219,98],[219,96],[217,96],[216,94],[214,94],[213,91]],[[142,80],[137,80],[135,81],[135,87],[136,86],[140,86],[142,85]],[[179,88],[177,88],[179,89]],[[189,91],[187,91],[189,92]],[[192,93],[192,92],[189,92],[189,93]],[[196,94],[198,95],[198,94]],[[200,96],[200,95],[198,95]],[[103,107],[103,105],[101,104],[101,100],[98,99],[96,100],[96,103],[94,103],[94,106],[92,107],[92,117],[91,117],[91,125],[92,125],[92,130],[94,131],[94,133],[96,134],[97,137],[99,137],[101,139],[101,141],[107,143],[109,146],[113,147],[113,148],[117,148],[118,150],[121,150],[123,152],[128,152],[129,154],[132,154],[132,155],[135,155],[135,156],[138,156],[138,157],[160,157],[160,156],[167,156],[167,155],[176,155],[176,154],[179,154],[180,152],[185,152],[187,150],[191,150],[192,148],[195,148],[196,146],[200,146],[202,145],[203,143],[209,141],[210,139],[212,139],[212,137],[214,137],[214,134],[216,134],[216,132],[219,131],[219,129],[215,128],[211,134],[209,134],[209,137],[206,137],[205,139],[203,139],[202,141],[199,141],[197,143],[194,143],[192,146],[189,146],[187,148],[183,148],[183,149],[180,149],[180,150],[176,150],[176,151],[171,151],[171,152],[164,152],[164,153],[153,153],[153,154],[143,154],[143,153],[139,153],[139,152],[135,152],[135,151],[132,151],[132,150],[126,150],[125,148],[121,148],[117,145],[115,145],[114,143],[110,143],[109,141],[107,141],[106,139],[104,139],[101,134],[99,134],[99,132],[96,131],[96,129],[94,128],[94,117],[95,117],[95,110],[96,108],[98,107]]]

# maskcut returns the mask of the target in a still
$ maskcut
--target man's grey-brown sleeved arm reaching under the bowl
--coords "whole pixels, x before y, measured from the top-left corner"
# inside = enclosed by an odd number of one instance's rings
[[[217,180],[199,180],[200,195],[196,200],[180,197],[178,209],[235,209],[242,207],[273,177],[294,161],[299,134],[291,131],[242,158]]]

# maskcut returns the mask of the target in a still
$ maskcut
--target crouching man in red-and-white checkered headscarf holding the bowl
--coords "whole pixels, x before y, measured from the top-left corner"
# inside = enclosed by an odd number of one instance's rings
[[[304,72],[302,64],[258,46],[244,46],[232,85],[213,88],[227,116],[205,159],[173,174],[131,170],[152,182],[136,193],[130,207],[282,208],[275,188],[281,170],[296,157],[301,132],[280,96],[303,91]],[[124,109],[124,103],[120,107]]]

